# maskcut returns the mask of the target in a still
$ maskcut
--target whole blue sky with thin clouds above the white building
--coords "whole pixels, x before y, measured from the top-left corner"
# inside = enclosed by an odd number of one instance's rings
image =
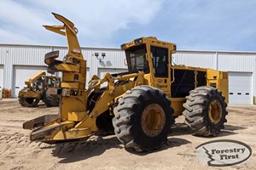
[[[255,0],[0,0],[0,43],[64,45],[42,25],[72,20],[82,47],[158,37],[178,49],[256,51]]]

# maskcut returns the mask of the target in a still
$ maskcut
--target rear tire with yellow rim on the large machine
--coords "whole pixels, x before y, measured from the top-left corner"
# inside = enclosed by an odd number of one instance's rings
[[[227,122],[224,95],[212,87],[202,86],[189,92],[183,104],[185,123],[200,136],[216,136]]]

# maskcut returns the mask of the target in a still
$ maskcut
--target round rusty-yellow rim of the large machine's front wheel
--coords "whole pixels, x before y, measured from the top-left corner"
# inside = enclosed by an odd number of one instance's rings
[[[141,118],[143,132],[149,137],[159,135],[166,124],[166,114],[160,105],[150,104],[144,111]]]

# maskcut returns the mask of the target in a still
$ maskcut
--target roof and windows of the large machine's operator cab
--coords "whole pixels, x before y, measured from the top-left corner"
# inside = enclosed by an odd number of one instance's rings
[[[125,49],[128,70],[130,73],[143,71],[154,72],[155,77],[168,77],[169,52],[175,53],[174,43],[158,41],[156,37],[142,37],[121,46]],[[148,49],[150,51],[148,52]],[[148,56],[152,62],[148,62]],[[150,63],[153,63],[150,70]]]

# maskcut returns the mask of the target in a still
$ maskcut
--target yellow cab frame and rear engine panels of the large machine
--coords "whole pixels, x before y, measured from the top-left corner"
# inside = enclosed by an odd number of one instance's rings
[[[178,97],[172,97],[172,86],[175,82],[175,76],[177,71],[192,71],[194,74],[192,75],[195,77],[195,86],[194,88],[198,87],[198,80],[197,80],[197,74],[198,72],[205,72],[205,84],[206,86],[211,86],[214,88],[218,88],[225,98],[225,102],[228,103],[228,72],[224,71],[215,71],[212,69],[205,69],[205,68],[199,68],[199,67],[191,67],[186,65],[172,65],[172,54],[176,53],[176,44],[171,42],[162,42],[157,40],[156,37],[142,37],[138,38],[132,42],[125,43],[121,46],[123,49],[129,49],[135,46],[139,46],[141,44],[145,44],[147,48],[147,59],[153,59],[152,53],[150,52],[150,47],[157,47],[157,48],[165,48],[168,52],[168,62],[169,65],[167,66],[168,75],[166,77],[155,77],[154,76],[154,65],[153,62],[150,62],[148,60],[148,66],[150,72],[148,74],[145,74],[144,82],[143,84],[147,84],[149,86],[152,86],[154,88],[159,88],[163,92],[165,92],[166,96],[171,99],[172,101],[172,108],[174,109],[173,116],[181,116],[182,112],[184,110],[183,103],[185,102],[185,98],[178,98]],[[187,85],[187,84],[186,84]]]

